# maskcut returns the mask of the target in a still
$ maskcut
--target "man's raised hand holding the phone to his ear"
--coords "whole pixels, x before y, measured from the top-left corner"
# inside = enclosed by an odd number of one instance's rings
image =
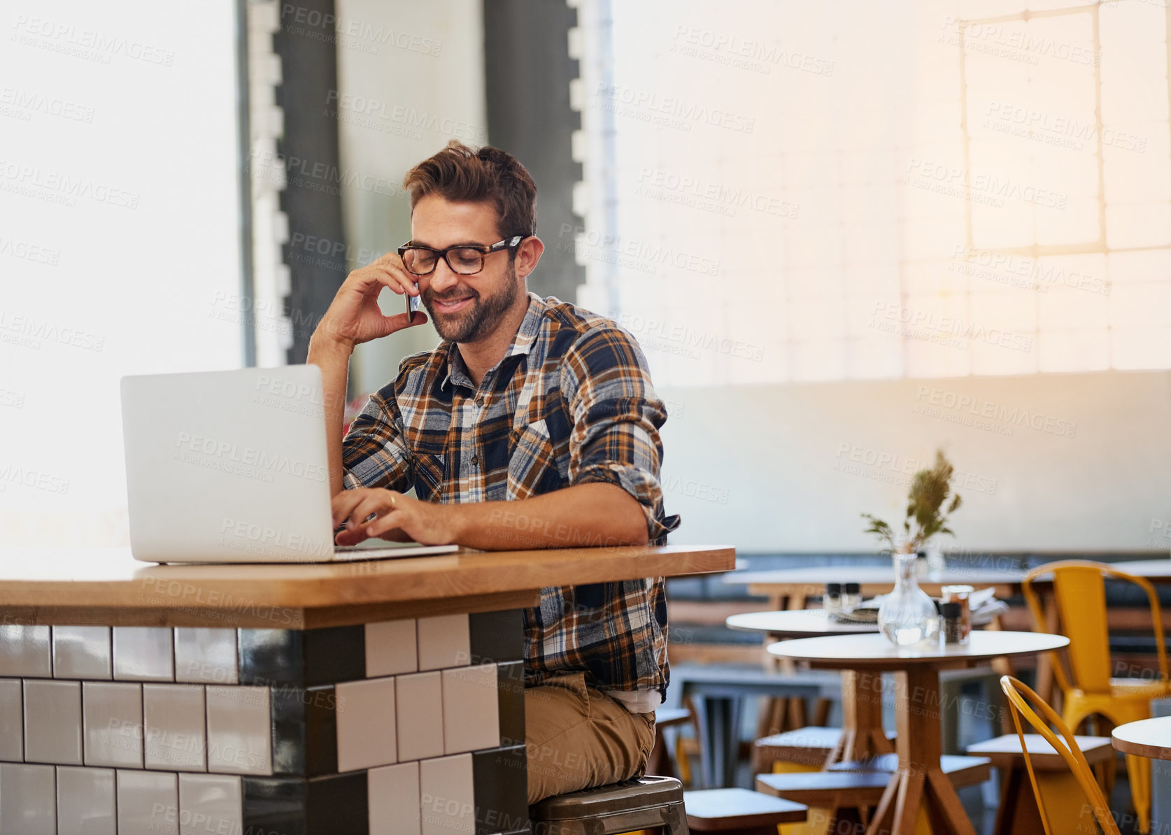
[[[427,315],[422,310],[416,310],[412,320],[408,320],[405,313],[384,316],[378,307],[378,294],[383,287],[389,287],[398,295],[419,294],[418,285],[406,272],[398,253],[388,252],[372,263],[350,273],[337,288],[334,301],[317,324],[316,334],[324,334],[352,348],[396,330],[426,323]]]

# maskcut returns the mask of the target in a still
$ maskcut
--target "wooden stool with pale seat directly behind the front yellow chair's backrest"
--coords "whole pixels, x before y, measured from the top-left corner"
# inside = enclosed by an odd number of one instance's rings
[[[1074,741],[1091,766],[1107,762],[1114,757],[1109,737],[1074,737]],[[1033,760],[1038,789],[1046,801],[1045,808],[1049,810],[1050,816],[1061,816],[1068,824],[1063,828],[1062,821],[1053,821],[1057,824],[1055,831],[1077,831],[1084,801],[1076,778],[1041,734],[1025,734],[1025,744],[1028,746],[1029,759]],[[1043,831],[1045,824],[1041,823],[1033,785],[1025,767],[1020,737],[1011,733],[975,742],[967,746],[967,753],[986,757],[1000,769],[1000,807],[997,809],[997,828],[993,831],[997,835],[1032,835]],[[1069,799],[1069,802],[1063,803],[1063,799]],[[1070,803],[1071,808],[1067,808]]]

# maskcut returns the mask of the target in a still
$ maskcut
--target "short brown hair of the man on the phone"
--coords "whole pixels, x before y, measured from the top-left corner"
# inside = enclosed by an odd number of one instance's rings
[[[468,148],[459,139],[424,159],[403,178],[411,211],[427,194],[452,203],[492,200],[500,214],[500,234],[536,234],[536,184],[516,157],[499,148]]]

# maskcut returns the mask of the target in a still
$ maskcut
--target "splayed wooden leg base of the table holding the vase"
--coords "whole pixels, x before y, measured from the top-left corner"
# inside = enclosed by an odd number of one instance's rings
[[[915,835],[919,809],[926,807],[932,833],[975,835],[959,795],[943,773],[939,670],[911,666],[896,675],[898,771],[883,794],[867,835]]]

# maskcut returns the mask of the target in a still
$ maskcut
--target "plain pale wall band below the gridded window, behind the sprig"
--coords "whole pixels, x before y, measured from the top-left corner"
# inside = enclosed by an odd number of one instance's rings
[[[858,514],[902,521],[910,474],[939,447],[960,472],[964,499],[956,539],[940,538],[945,547],[1171,548],[1167,372],[663,388],[659,395],[672,413],[663,429],[666,509],[683,514],[674,543],[872,550]],[[933,399],[938,411],[924,413]],[[985,409],[1000,419],[951,422],[978,420]]]

